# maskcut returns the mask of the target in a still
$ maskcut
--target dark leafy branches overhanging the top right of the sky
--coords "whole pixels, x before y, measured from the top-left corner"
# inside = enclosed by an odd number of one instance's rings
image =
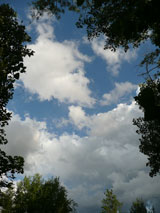
[[[89,38],[104,35],[105,48],[127,50],[129,44],[137,47],[148,38],[160,46],[158,0],[35,0],[33,5],[39,14],[80,11],[77,26],[86,26]]]

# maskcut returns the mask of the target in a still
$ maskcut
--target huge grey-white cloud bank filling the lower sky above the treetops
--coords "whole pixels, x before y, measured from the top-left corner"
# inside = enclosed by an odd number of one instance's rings
[[[140,113],[134,103],[91,116],[71,106],[72,123],[88,128],[85,137],[54,135],[45,122],[14,115],[7,127],[6,151],[24,156],[27,174],[60,176],[79,212],[98,212],[105,188],[112,187],[124,205],[139,196],[152,199],[160,196],[160,182],[148,176],[147,159],[138,150],[132,119]]]

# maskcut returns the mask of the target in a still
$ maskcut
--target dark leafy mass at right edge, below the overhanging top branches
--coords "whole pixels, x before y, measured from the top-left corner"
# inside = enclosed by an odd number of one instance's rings
[[[133,120],[138,127],[140,151],[148,156],[147,166],[151,168],[153,177],[160,171],[160,81],[148,80],[142,84],[139,94],[135,97],[144,117]]]

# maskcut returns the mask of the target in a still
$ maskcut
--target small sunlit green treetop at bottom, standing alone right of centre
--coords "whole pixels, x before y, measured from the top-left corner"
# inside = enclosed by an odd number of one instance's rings
[[[120,212],[122,203],[120,203],[116,195],[113,194],[113,190],[106,190],[105,198],[102,200],[102,213],[117,213]]]

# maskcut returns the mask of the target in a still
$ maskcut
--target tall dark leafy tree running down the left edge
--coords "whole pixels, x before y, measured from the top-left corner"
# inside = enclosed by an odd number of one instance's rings
[[[4,145],[8,142],[4,127],[11,119],[6,106],[13,97],[14,82],[26,70],[23,58],[33,55],[33,51],[27,49],[25,43],[30,41],[30,37],[8,4],[0,5],[0,26],[0,145]],[[13,179],[16,172],[23,172],[23,164],[22,157],[9,156],[0,149],[0,187],[9,186],[3,176]]]

